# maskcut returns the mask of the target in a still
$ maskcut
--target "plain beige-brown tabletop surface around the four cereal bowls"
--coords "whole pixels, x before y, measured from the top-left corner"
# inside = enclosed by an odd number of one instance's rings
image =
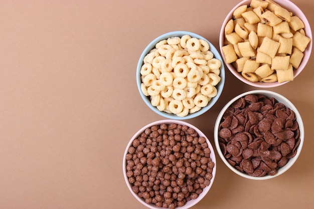
[[[314,28],[314,2],[295,4]],[[0,208],[144,208],[122,174],[125,146],[164,119],[145,106],[135,70],[146,45],[186,30],[218,48],[224,17],[238,1],[0,1]],[[193,208],[312,208],[314,67],[284,86],[305,126],[296,163],[271,180],[237,176],[217,155],[212,189]],[[221,98],[187,120],[213,141],[227,101],[256,88],[226,69]]]

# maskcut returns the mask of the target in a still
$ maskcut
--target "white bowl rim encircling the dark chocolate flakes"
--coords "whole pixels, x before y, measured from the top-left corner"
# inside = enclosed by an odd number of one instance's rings
[[[286,165],[284,165],[283,167],[279,168],[277,170],[277,173],[275,175],[264,175],[261,177],[255,177],[255,176],[250,176],[244,172],[241,172],[240,170],[236,169],[235,167],[233,167],[228,161],[227,159],[224,157],[220,146],[219,146],[219,140],[218,140],[218,129],[219,129],[219,125],[220,125],[220,121],[223,117],[223,114],[225,113],[225,111],[227,110],[227,108],[233,103],[235,102],[237,99],[244,97],[245,95],[248,94],[262,94],[265,95],[267,97],[274,97],[274,99],[276,101],[279,100],[283,100],[284,105],[287,106],[288,108],[290,108],[291,110],[293,110],[296,120],[299,124],[299,131],[300,131],[300,144],[297,147],[297,152],[296,155],[293,158],[289,159],[289,163],[287,163]],[[279,101],[281,102],[281,101]],[[303,121],[301,118],[300,113],[298,112],[298,110],[296,109],[296,107],[292,104],[292,102],[290,102],[286,97],[282,96],[281,94],[278,94],[276,92],[273,91],[269,91],[269,90],[252,90],[252,91],[247,91],[244,92],[242,94],[239,94],[238,96],[234,97],[233,99],[231,99],[220,111],[220,113],[217,116],[216,122],[215,122],[215,127],[214,127],[214,141],[215,141],[215,146],[216,146],[216,150],[218,152],[218,155],[220,156],[220,158],[222,159],[222,161],[236,174],[248,178],[248,179],[253,179],[253,180],[265,180],[265,179],[270,179],[270,178],[274,178],[277,177],[281,174],[283,174],[285,171],[287,171],[297,160],[298,156],[300,155],[302,146],[303,146],[303,142],[304,142],[304,125],[303,125]]]

